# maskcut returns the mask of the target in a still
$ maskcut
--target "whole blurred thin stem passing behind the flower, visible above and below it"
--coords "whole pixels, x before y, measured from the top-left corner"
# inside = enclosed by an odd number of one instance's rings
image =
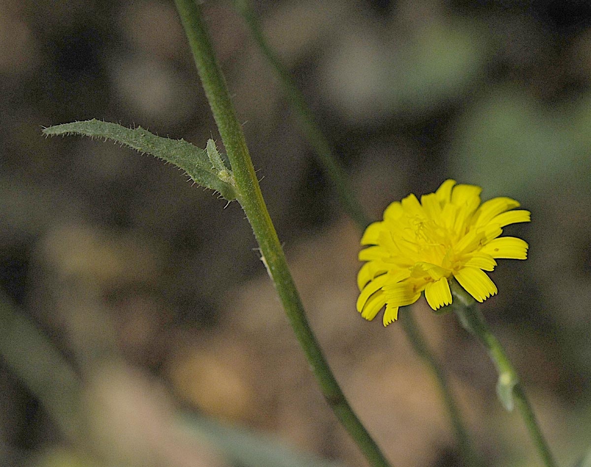
[[[342,165],[339,164],[335,158],[328,138],[326,138],[320,129],[316,119],[314,119],[313,112],[308,106],[306,99],[304,99],[300,89],[298,89],[296,81],[293,79],[293,76],[291,76],[291,73],[287,67],[282,64],[277,53],[267,43],[267,39],[265,38],[265,34],[262,31],[261,24],[256,17],[255,11],[252,8],[251,2],[249,0],[233,0],[233,2],[236,6],[236,9],[245,20],[246,25],[248,25],[248,28],[251,31],[251,35],[254,38],[256,44],[269,61],[269,64],[271,64],[271,67],[274,68],[275,73],[277,73],[281,81],[281,85],[283,86],[285,96],[287,97],[291,107],[293,107],[295,110],[296,115],[300,119],[300,123],[303,127],[306,138],[313,146],[319,163],[323,166],[324,171],[336,187],[340,203],[342,204],[344,210],[349,214],[349,216],[353,219],[353,221],[355,221],[362,231],[365,230],[371,221],[365,214],[365,211],[363,211],[358,198],[356,198],[355,193],[350,187],[350,183],[348,181],[349,178],[345,169],[343,169]],[[449,388],[445,373],[443,370],[441,370],[440,365],[437,364],[436,359],[429,350],[420,329],[413,321],[413,316],[411,313],[407,313],[401,322],[414,351],[420,355],[439,384],[441,397],[443,398],[447,412],[449,412],[450,418],[452,419],[452,425],[454,433],[456,434],[457,443],[466,464],[480,465],[481,462],[472,448],[470,437],[468,436],[467,430],[462,422],[460,410]]]

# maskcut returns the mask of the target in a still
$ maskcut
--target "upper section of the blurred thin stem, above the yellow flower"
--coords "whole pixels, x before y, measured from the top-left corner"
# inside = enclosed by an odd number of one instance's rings
[[[324,167],[324,171],[326,171],[326,174],[335,185],[340,203],[350,217],[362,229],[365,229],[371,221],[363,211],[361,204],[359,204],[359,200],[350,186],[347,172],[337,162],[328,138],[324,136],[316,119],[314,119],[314,114],[306,103],[306,99],[304,99],[300,89],[297,87],[296,81],[291,76],[290,71],[281,63],[275,51],[269,47],[250,2],[248,0],[234,0],[234,4],[245,19],[256,44],[258,44],[262,53],[267,57],[267,60],[278,74],[285,96],[291,107],[296,110],[296,116],[300,119],[300,124],[307,140],[314,148],[320,164]]]

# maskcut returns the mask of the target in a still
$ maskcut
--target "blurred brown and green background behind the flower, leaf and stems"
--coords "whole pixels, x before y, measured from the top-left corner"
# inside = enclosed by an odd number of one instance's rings
[[[96,117],[202,148],[219,140],[173,2],[1,5],[0,465],[366,465],[313,381],[239,205],[111,142],[41,135]],[[591,444],[591,5],[254,6],[372,218],[446,178],[532,211],[506,228],[529,259],[499,264],[482,309],[558,461],[574,465]],[[401,326],[355,311],[361,233],[280,83],[230,2],[204,9],[350,402],[395,465],[460,465]],[[539,465],[495,398],[485,351],[453,314],[424,300],[414,312],[488,465]]]

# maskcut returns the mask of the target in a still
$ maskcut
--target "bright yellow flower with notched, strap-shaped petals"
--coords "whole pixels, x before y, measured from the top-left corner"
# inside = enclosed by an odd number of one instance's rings
[[[455,186],[454,186],[455,185]],[[452,303],[452,276],[479,302],[497,292],[485,271],[495,259],[526,259],[528,244],[501,237],[502,227],[529,222],[530,211],[513,210],[511,198],[480,204],[482,188],[446,180],[439,189],[408,195],[384,211],[384,220],[366,228],[359,260],[366,261],[357,276],[361,294],[357,310],[374,319],[386,306],[384,326],[398,318],[398,308],[418,300],[425,291],[434,310]]]

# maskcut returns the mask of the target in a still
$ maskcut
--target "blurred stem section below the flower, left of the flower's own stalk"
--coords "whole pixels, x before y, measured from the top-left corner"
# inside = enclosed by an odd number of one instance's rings
[[[435,360],[433,354],[431,354],[428,349],[424,338],[421,336],[410,306],[406,307],[405,311],[406,312],[404,316],[402,316],[400,323],[404,328],[414,351],[431,370],[431,373],[437,380],[439,390],[441,391],[441,397],[443,398],[447,412],[449,412],[450,419],[452,420],[454,434],[462,459],[466,465],[483,465],[482,459],[480,459],[478,454],[472,448],[472,443],[470,443],[470,438],[462,423],[459,407],[452,397],[452,391],[450,390],[446,375],[443,373],[443,370],[441,370],[439,363],[437,363],[437,360]]]

